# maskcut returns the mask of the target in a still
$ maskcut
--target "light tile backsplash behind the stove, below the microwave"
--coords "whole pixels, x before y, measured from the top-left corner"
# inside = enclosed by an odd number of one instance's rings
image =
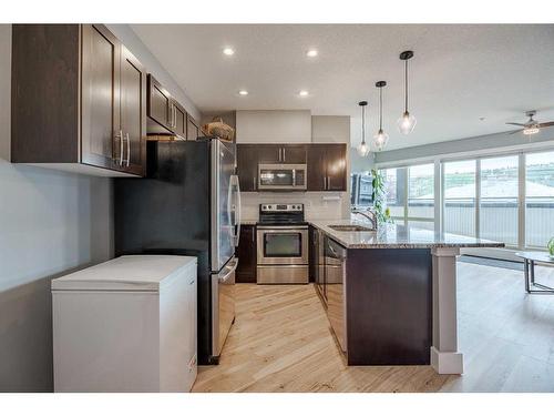
[[[349,201],[347,192],[286,192],[286,193],[242,193],[243,220],[257,221],[259,204],[302,203],[306,220],[337,220],[348,217]]]

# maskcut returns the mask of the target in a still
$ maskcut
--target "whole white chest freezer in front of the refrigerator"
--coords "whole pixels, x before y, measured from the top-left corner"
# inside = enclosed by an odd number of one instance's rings
[[[189,392],[196,271],[196,257],[132,255],[53,280],[54,390]]]

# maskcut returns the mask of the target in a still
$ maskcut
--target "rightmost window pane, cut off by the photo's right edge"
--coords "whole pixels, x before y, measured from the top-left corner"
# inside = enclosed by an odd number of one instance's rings
[[[525,155],[525,245],[554,237],[554,152]]]

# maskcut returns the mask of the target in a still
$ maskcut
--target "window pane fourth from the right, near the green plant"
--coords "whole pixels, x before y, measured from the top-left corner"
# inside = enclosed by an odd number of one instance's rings
[[[408,168],[408,221],[413,226],[429,221],[425,229],[434,229],[433,163]]]

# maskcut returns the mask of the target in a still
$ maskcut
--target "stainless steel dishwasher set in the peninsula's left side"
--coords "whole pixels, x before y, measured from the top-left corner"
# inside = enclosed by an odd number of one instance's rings
[[[346,332],[347,250],[335,240],[325,239],[325,286],[327,317],[342,352],[347,351]]]

